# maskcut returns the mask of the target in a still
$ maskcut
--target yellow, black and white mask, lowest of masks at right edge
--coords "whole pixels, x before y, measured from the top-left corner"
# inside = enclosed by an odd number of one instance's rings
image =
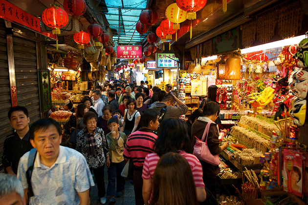
[[[289,114],[292,118],[292,123],[298,126],[303,126],[306,119],[306,103],[307,101],[301,98],[296,98],[292,101],[292,108]]]

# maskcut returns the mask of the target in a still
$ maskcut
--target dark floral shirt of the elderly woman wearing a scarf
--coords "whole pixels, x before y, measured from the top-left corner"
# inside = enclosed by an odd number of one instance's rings
[[[96,155],[92,156],[88,153],[88,147],[86,143],[85,129],[81,130],[77,134],[76,150],[83,154],[87,160],[88,166],[97,168],[105,164],[105,156],[109,152],[108,144],[104,135],[104,131],[101,128],[96,127],[95,142],[97,146]]]

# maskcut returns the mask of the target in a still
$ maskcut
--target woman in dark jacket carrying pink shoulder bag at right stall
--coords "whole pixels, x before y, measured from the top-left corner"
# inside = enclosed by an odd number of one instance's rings
[[[222,146],[219,145],[219,130],[217,124],[214,123],[219,113],[219,104],[216,102],[208,102],[203,107],[203,117],[199,117],[192,125],[192,147],[195,147],[194,155],[197,156],[202,165],[205,187],[208,188],[215,197],[217,174],[220,171],[218,166],[218,155],[228,147],[228,143],[226,142],[223,143]],[[208,125],[208,123],[210,124]],[[196,143],[197,138],[198,140]]]

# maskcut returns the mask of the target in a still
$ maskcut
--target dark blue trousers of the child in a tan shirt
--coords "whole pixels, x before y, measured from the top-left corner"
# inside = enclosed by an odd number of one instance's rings
[[[108,186],[107,186],[107,195],[115,195],[115,178],[116,178],[116,192],[124,190],[125,178],[121,176],[121,172],[125,166],[125,160],[120,163],[110,162],[108,168]]]

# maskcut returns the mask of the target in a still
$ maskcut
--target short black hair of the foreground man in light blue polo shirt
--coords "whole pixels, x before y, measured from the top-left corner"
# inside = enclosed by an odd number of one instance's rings
[[[58,131],[59,135],[62,135],[62,127],[61,125],[52,118],[43,118],[41,120],[35,121],[30,127],[30,139],[34,140],[34,133],[38,130],[45,131],[51,125],[54,125]]]

